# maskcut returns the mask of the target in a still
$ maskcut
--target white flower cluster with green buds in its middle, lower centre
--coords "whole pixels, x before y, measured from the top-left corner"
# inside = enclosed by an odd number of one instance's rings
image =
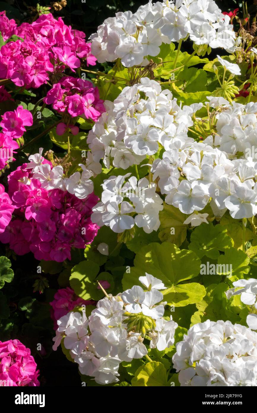
[[[98,301],[88,320],[83,311],[82,315],[71,312],[57,321],[53,349],[64,337],[64,347],[78,363],[80,373],[94,377],[99,384],[118,382],[122,361],[145,356],[145,339],[150,340],[150,348],[160,351],[174,344],[177,323],[171,316],[170,320],[163,318],[166,303],[161,303],[163,294],[159,290],[165,286],[147,273],[139,281],[146,292],[135,285]]]

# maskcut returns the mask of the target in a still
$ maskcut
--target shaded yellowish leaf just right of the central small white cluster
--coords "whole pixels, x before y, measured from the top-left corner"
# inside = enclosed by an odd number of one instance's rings
[[[159,214],[160,228],[158,237],[160,240],[162,242],[172,242],[180,247],[186,239],[186,228],[188,227],[188,225],[184,224],[186,217],[187,215],[179,211],[178,208],[163,202],[163,210]]]

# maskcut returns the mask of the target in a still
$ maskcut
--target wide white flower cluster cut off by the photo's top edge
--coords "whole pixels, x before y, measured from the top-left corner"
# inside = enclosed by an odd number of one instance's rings
[[[150,1],[136,13],[119,12],[109,17],[92,34],[91,51],[98,62],[117,58],[126,67],[148,64],[162,43],[178,42],[190,36],[196,45],[235,49],[230,17],[224,16],[213,0]]]

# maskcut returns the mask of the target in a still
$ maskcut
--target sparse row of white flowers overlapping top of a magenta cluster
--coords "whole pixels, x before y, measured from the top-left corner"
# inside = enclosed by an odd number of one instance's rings
[[[64,176],[64,169],[61,165],[51,168],[50,164],[43,163],[45,158],[42,157],[42,152],[43,148],[39,148],[38,154],[30,155],[28,157],[30,163],[26,166],[26,169],[31,169],[33,179],[39,180],[41,188],[48,191],[52,189],[67,190],[79,199],[85,199],[93,192],[94,184],[90,180],[93,172],[90,171],[89,166],[86,168],[85,165],[79,164],[83,170],[82,173],[77,171],[67,178]],[[98,173],[100,172],[98,171]]]

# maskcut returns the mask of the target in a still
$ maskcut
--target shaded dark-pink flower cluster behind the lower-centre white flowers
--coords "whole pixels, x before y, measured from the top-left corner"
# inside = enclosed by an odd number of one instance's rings
[[[54,321],[54,330],[57,330],[57,320],[62,316],[66,316],[69,311],[73,310],[75,307],[82,306],[82,304],[95,305],[96,301],[88,300],[85,301],[82,298],[78,297],[75,292],[70,288],[61,288],[54,294],[54,300],[50,303],[52,306],[51,309],[51,318]]]

